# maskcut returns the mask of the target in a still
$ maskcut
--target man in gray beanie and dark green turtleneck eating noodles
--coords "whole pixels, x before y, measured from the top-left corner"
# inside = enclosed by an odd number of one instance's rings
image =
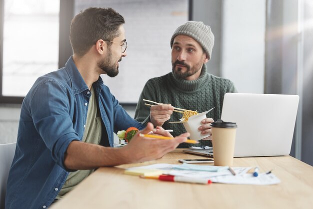
[[[172,72],[148,80],[141,92],[135,119],[142,124],[152,122],[154,126],[172,129],[173,136],[186,132],[179,121],[180,113],[173,114],[173,107],[204,112],[212,107],[201,121],[198,131],[209,135],[200,140],[198,146],[211,146],[210,123],[220,119],[224,94],[236,92],[233,83],[224,78],[209,74],[205,63],[211,59],[214,35],[209,26],[202,22],[188,21],[179,26],[170,39]],[[142,99],[163,103],[151,108]],[[178,148],[188,148],[182,143]]]

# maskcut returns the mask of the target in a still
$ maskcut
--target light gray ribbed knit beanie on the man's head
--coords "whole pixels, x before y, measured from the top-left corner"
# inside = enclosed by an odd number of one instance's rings
[[[174,38],[178,35],[185,35],[193,38],[201,45],[208,59],[211,59],[212,49],[214,46],[214,35],[209,26],[205,26],[202,22],[188,21],[179,26],[170,39],[170,48],[173,46]]]

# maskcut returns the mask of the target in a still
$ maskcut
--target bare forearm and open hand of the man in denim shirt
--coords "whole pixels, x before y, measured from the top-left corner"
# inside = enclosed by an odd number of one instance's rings
[[[66,149],[64,166],[68,169],[82,170],[154,160],[175,149],[189,136],[189,133],[184,133],[167,140],[139,136],[139,133],[147,134],[152,130],[155,134],[171,137],[163,128],[153,129],[152,123],[148,123],[145,129],[138,131],[127,146],[122,148],[103,147],[74,140]]]

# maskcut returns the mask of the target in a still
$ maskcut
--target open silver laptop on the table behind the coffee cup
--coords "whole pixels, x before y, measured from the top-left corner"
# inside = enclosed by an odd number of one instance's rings
[[[226,93],[223,121],[236,122],[234,157],[289,155],[299,96]],[[212,156],[212,149],[183,150]]]

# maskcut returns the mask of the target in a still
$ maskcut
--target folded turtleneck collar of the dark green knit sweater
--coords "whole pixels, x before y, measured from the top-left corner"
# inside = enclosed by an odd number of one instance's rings
[[[205,64],[203,64],[202,66],[201,74],[199,78],[193,81],[176,78],[172,72],[170,74],[171,74],[170,78],[173,84],[182,91],[195,91],[195,90],[200,89],[204,85],[204,83],[207,81],[207,77],[208,77]]]

